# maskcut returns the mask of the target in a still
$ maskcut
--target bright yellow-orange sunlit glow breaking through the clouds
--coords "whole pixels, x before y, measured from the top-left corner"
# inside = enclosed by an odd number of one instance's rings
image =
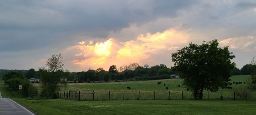
[[[164,32],[155,34],[147,33],[139,35],[135,40],[119,42],[114,38],[110,38],[104,42],[93,44],[85,44],[84,41],[79,42],[79,45],[70,46],[65,53],[74,54],[70,57],[72,64],[80,66],[90,66],[93,69],[115,64],[117,67],[128,65],[130,63],[157,60],[152,57],[157,57],[157,52],[164,51],[171,54],[184,44],[188,43],[188,34],[186,32],[177,32],[174,29],[169,29]],[[151,58],[150,58],[151,57]],[[153,64],[153,63],[152,63]],[[154,63],[159,64],[159,63]]]

